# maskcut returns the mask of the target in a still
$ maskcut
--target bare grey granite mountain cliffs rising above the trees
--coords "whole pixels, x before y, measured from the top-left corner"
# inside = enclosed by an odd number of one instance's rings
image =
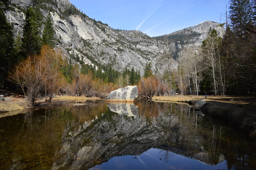
[[[69,57],[70,54],[78,56],[85,64],[92,64],[96,68],[99,65],[111,64],[112,68],[120,72],[127,66],[130,69],[134,67],[143,74],[147,62],[151,62],[152,69],[160,73],[169,68],[168,63],[163,60],[168,48],[161,39],[149,37],[140,31],[114,30],[107,24],[90,19],[78,9],[76,14],[71,13],[67,16],[64,11],[73,7],[69,0],[51,1],[53,3],[46,1],[42,3],[40,10],[46,18],[47,9],[52,9],[50,14],[56,40],[59,39],[60,42],[56,42],[56,48],[62,49],[64,56]],[[22,12],[24,10],[19,9],[27,9],[36,4],[35,0],[12,0],[11,3],[15,10],[7,11],[6,17],[9,22],[13,23],[14,33],[17,36],[18,32],[22,32],[25,19],[25,14]],[[197,32],[198,35],[189,39],[187,45],[200,46],[200,43],[207,37],[210,27],[217,28],[217,24],[206,21],[173,34]],[[175,42],[169,45],[174,46]],[[182,57],[180,50],[183,48],[184,45],[175,48],[176,55],[180,54],[179,57]],[[177,66],[178,63],[173,61],[172,67],[177,68]]]

